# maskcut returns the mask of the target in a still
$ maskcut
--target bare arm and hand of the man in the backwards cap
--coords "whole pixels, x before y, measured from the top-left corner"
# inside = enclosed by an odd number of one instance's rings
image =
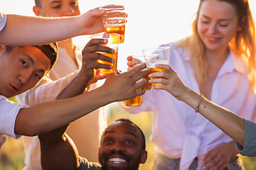
[[[40,135],[55,130],[114,101],[124,101],[144,94],[146,64],[123,74],[108,74],[105,84],[85,94],[59,101],[41,103],[22,108],[17,115],[14,132],[16,135]]]

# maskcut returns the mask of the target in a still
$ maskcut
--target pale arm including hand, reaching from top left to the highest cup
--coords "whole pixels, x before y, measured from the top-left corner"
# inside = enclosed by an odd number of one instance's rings
[[[6,26],[0,31],[0,44],[38,45],[66,40],[78,35],[104,31],[102,15],[105,10],[92,9],[81,16],[43,18],[7,15]]]

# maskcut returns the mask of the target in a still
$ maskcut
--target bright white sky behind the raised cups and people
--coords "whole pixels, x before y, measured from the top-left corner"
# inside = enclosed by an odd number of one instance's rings
[[[122,4],[128,13],[124,43],[119,45],[118,67],[126,66],[128,55],[139,53],[144,48],[186,37],[191,33],[190,24],[196,13],[199,0],[78,0],[80,11],[85,13],[91,8],[105,4]],[[2,13],[34,16],[34,0],[0,0]],[[250,0],[255,16],[256,1]],[[256,16],[255,16],[256,17]],[[74,38],[76,45],[85,46],[90,40],[88,35]]]

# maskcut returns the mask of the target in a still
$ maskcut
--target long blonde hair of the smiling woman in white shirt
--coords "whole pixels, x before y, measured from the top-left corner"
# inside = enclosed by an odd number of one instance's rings
[[[177,47],[187,47],[191,52],[191,64],[195,68],[196,79],[198,83],[207,81],[206,69],[208,62],[205,57],[205,49],[197,31],[198,13],[203,1],[200,0],[195,21],[192,23],[192,35],[182,42],[178,42]],[[248,0],[218,0],[226,1],[235,7],[238,15],[238,24],[242,30],[237,33],[235,38],[230,41],[229,45],[236,56],[241,57],[248,65],[248,78],[252,86],[256,85],[256,67],[255,67],[255,22],[252,18],[252,12]]]

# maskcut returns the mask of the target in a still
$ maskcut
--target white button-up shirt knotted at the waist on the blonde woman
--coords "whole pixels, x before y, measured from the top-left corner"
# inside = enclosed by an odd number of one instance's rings
[[[181,81],[200,94],[188,52],[174,49],[172,43],[163,46],[171,47],[169,64]],[[213,82],[210,101],[255,121],[255,97],[245,63],[230,52]],[[127,107],[124,102],[119,102],[119,105],[129,113],[151,113],[151,141],[156,144],[156,152],[169,158],[181,158],[181,170],[188,169],[196,157],[200,161],[198,169],[201,169],[202,159],[210,149],[232,141],[200,113],[195,113],[193,108],[164,90],[146,91],[142,96],[142,106]]]

